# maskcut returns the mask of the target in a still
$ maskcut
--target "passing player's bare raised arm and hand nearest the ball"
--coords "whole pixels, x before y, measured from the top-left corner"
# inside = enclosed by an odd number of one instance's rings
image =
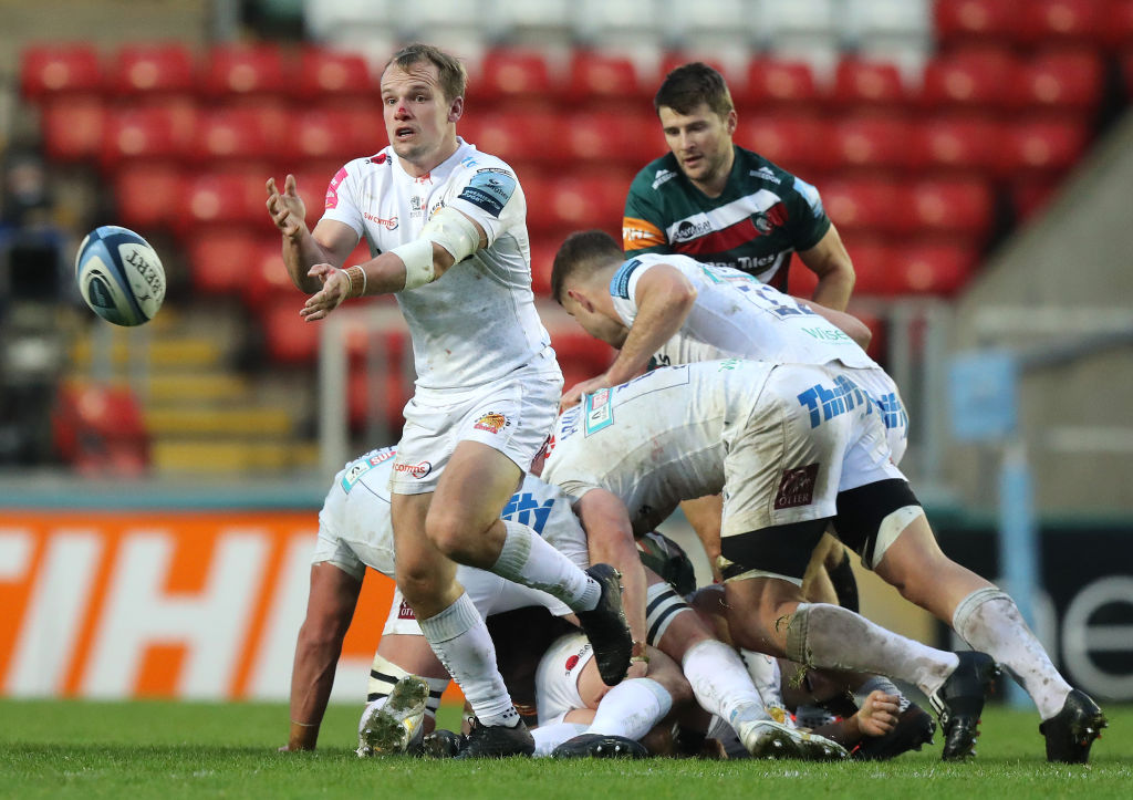
[[[314,232],[307,229],[307,207],[299,196],[293,175],[283,181],[283,192],[275,179],[267,179],[267,213],[283,235],[282,256],[291,282],[308,295],[322,283],[307,274],[315,264],[340,266],[358,244],[353,228],[337,220],[320,220]]]

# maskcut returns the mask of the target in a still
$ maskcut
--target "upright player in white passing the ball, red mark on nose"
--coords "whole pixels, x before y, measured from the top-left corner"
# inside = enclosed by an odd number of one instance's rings
[[[339,170],[314,231],[292,176],[282,193],[267,181],[267,210],[288,274],[310,293],[304,320],[392,293],[409,325],[417,383],[391,479],[397,580],[475,709],[462,752],[472,758],[529,755],[534,742],[457,563],[563,598],[610,683],[625,674],[632,639],[613,568],[588,575],[500,518],[553,424],[562,373],[535,309],[522,188],[505,162],[457,136],[466,78],[436,48],[398,51],[381,79],[389,146]],[[361,237],[373,257],[341,269]]]

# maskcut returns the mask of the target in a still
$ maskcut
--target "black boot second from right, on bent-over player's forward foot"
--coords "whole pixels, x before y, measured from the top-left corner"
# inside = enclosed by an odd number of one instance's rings
[[[995,689],[999,666],[987,653],[964,650],[960,664],[928,700],[940,717],[944,751],[940,758],[956,761],[976,755],[983,701]]]

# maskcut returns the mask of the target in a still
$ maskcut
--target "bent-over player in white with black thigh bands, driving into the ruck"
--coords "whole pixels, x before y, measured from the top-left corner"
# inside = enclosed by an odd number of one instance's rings
[[[1105,716],[1066,683],[1014,602],[937,546],[855,377],[836,363],[655,369],[562,414],[543,478],[578,497],[598,493],[606,516],[624,514],[638,535],[682,500],[723,492],[721,570],[738,645],[913,683],[940,715],[946,759],[973,754],[999,662],[1039,707],[1048,759],[1087,760]],[[802,577],[832,522],[869,569],[977,652],[938,650],[807,603]]]

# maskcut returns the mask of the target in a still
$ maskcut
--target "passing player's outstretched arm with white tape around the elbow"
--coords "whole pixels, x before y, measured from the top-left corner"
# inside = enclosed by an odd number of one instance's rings
[[[312,266],[307,275],[320,281],[322,289],[307,298],[299,315],[314,322],[353,297],[423,287],[483,247],[487,247],[484,228],[463,212],[445,206],[433,214],[417,239],[364,264],[347,270],[331,264]]]

